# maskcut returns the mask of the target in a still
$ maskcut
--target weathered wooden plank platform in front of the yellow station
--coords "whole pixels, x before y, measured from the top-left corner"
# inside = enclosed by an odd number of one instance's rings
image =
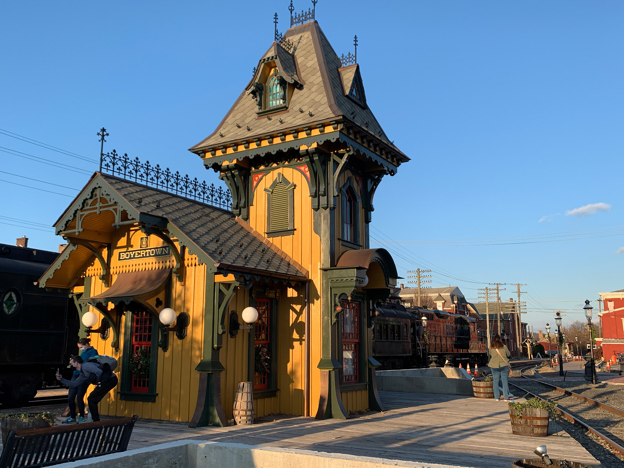
[[[203,427],[137,421],[128,449],[180,439],[308,449],[480,468],[509,467],[546,444],[553,458],[598,462],[551,421],[548,437],[514,436],[507,404],[461,395],[380,392],[388,407],[349,420],[280,417],[254,426]],[[520,401],[520,400],[517,400]]]

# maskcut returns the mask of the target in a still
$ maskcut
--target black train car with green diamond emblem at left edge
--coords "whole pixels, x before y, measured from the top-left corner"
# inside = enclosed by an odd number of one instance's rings
[[[69,354],[77,353],[79,316],[69,291],[34,284],[58,255],[0,244],[0,403],[4,407],[23,406],[44,383],[56,383],[56,370],[68,373]],[[67,353],[68,343],[71,353]]]

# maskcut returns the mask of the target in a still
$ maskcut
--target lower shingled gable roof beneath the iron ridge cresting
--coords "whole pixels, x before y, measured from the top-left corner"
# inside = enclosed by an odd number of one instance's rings
[[[137,221],[140,215],[167,220],[172,234],[185,237],[185,240],[180,239],[181,243],[202,263],[212,261],[220,270],[251,276],[299,281],[308,277],[303,266],[231,212],[100,172],[94,173],[76,202],[59,218],[57,233],[71,222],[82,200],[89,197],[95,187],[112,192],[109,193],[111,200],[134,215]]]

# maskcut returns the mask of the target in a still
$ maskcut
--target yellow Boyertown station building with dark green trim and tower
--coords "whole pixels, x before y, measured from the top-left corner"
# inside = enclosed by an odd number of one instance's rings
[[[256,417],[383,409],[371,320],[397,271],[368,225],[382,178],[409,158],[318,22],[275,39],[190,148],[227,185],[227,209],[196,180],[105,154],[55,224],[67,246],[39,286],[70,288],[97,314],[85,333],[120,362],[102,414],[223,426],[247,381]],[[165,308],[175,324],[160,322]]]

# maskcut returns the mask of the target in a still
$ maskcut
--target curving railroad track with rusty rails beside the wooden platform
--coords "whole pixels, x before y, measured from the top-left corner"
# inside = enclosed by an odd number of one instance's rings
[[[624,411],[622,409],[524,374],[524,371],[533,367],[534,364],[520,369],[520,374],[524,378],[522,384],[512,382],[509,384],[539,399],[555,403],[562,417],[600,437],[613,452],[624,456]]]

